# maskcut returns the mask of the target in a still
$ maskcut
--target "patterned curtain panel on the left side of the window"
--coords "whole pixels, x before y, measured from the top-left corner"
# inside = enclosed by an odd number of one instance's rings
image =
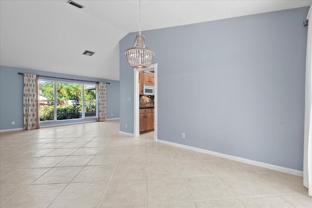
[[[39,128],[38,79],[36,75],[24,74],[24,130]]]

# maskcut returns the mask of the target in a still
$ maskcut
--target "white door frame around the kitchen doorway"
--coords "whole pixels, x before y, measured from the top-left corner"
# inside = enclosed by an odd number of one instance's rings
[[[158,96],[157,96],[157,63],[152,64],[150,67],[144,69],[154,69],[154,78],[155,78],[155,89],[154,89],[154,112],[155,112],[155,120],[154,120],[154,141],[157,142],[157,120],[158,120],[158,116],[157,116],[157,100],[158,100]],[[142,70],[142,71],[144,71]],[[134,136],[137,137],[140,135],[140,118],[139,118],[139,85],[138,85],[138,69],[133,69],[134,71]],[[143,77],[141,77],[141,81],[143,81]]]

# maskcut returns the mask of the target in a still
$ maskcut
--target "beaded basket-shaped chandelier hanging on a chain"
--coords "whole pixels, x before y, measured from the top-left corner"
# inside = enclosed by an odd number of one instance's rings
[[[139,33],[132,48],[126,50],[127,60],[133,68],[145,69],[152,64],[154,51],[146,47],[145,38],[141,35],[141,1],[139,0]]]

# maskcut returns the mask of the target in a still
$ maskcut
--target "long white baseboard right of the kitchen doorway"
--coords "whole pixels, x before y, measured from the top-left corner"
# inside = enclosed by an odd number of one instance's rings
[[[232,155],[229,155],[229,154],[223,154],[223,153],[219,153],[219,152],[215,152],[215,151],[199,149],[199,148],[195,148],[195,147],[191,147],[191,146],[187,146],[187,145],[181,145],[181,144],[177,144],[177,143],[174,143],[174,142],[168,142],[168,141],[164,141],[164,140],[160,140],[160,139],[158,139],[157,141],[159,143],[172,145],[172,146],[183,148],[183,149],[187,149],[187,150],[192,150],[192,151],[198,151],[198,152],[202,152],[202,153],[206,153],[206,154],[211,154],[211,155],[215,155],[215,156],[218,156],[218,157],[227,158],[227,159],[230,159],[230,160],[235,160],[235,161],[238,161],[238,162],[247,163],[247,164],[254,165],[254,166],[259,166],[259,167],[262,167],[262,168],[267,168],[267,169],[271,169],[271,170],[277,170],[277,171],[289,173],[289,174],[292,174],[292,175],[303,176],[303,171],[300,171],[300,170],[284,168],[284,167],[281,167],[281,166],[275,166],[275,165],[268,164],[268,163],[262,163],[262,162],[258,162],[258,161],[254,161],[254,160],[245,159],[245,158],[242,158],[242,157],[236,157],[236,156],[232,156]]]

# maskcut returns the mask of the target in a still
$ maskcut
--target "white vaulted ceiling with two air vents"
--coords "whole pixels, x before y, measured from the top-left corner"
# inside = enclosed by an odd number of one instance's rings
[[[118,42],[138,31],[138,0],[0,0],[0,64],[119,80]],[[151,30],[310,6],[312,0],[142,0]],[[144,33],[143,33],[144,35]],[[131,48],[133,42],[129,42]],[[84,50],[96,52],[92,57]]]

